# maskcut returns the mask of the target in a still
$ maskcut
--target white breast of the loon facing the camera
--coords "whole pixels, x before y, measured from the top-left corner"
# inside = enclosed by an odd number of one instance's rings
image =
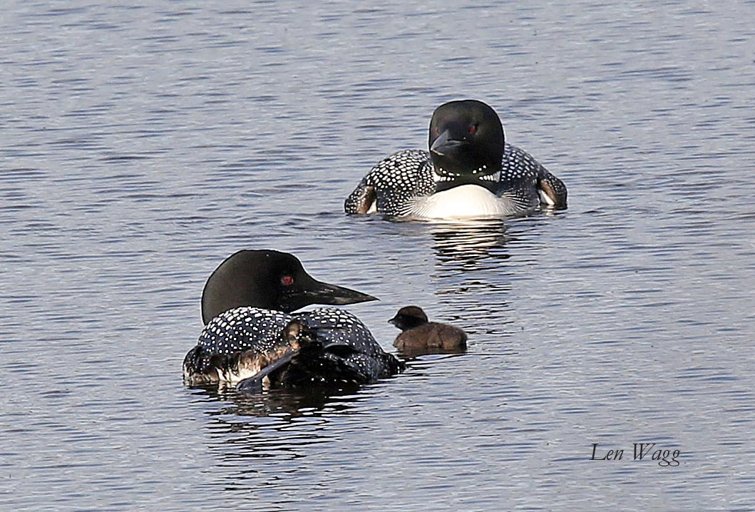
[[[409,215],[419,219],[470,219],[505,217],[518,211],[515,202],[484,187],[460,185],[418,199]]]

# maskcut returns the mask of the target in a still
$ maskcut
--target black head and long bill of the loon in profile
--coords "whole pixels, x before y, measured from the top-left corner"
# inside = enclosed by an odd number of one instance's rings
[[[317,281],[292,254],[245,250],[231,254],[211,274],[202,291],[202,320],[235,307],[291,313],[310,304],[377,301],[371,295]]]

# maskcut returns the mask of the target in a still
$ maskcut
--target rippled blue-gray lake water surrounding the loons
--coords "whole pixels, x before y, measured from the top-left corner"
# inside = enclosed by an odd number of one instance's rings
[[[147,3],[0,17],[0,509],[755,509],[753,2]],[[463,97],[568,211],[341,214]],[[388,350],[407,304],[470,350],[187,389],[239,248],[381,298],[350,309]]]

